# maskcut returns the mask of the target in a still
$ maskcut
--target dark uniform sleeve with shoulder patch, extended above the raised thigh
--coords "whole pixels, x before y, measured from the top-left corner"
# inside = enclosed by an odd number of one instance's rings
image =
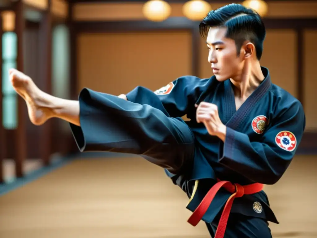
[[[153,96],[155,96],[169,116],[181,117],[187,114],[189,105],[193,104],[197,97],[199,80],[195,76],[183,76],[154,92],[138,86],[127,93],[126,97],[131,102],[152,105],[155,101]]]

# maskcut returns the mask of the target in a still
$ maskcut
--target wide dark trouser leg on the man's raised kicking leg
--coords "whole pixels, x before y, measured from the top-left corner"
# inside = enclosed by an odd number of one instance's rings
[[[149,97],[151,106],[83,89],[79,95],[81,126],[70,124],[80,151],[140,155],[173,174],[190,166],[194,154],[191,129],[181,118],[169,117],[154,93]]]

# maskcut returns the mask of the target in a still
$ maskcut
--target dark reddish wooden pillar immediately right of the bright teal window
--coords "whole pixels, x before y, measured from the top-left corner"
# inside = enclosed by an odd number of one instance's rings
[[[23,32],[25,29],[25,19],[23,16],[24,13],[24,4],[22,0],[18,0],[14,6],[16,14],[16,27],[15,32],[17,36],[17,70],[23,70]],[[15,136],[15,169],[16,177],[23,176],[23,162],[26,159],[26,127],[25,127],[25,116],[26,116],[26,104],[22,97],[18,96],[18,116],[17,116],[17,128]],[[31,138],[30,138],[31,139]]]

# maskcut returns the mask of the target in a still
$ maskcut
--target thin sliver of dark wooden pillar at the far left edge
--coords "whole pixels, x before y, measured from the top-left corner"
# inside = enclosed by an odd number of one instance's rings
[[[0,183],[3,183],[3,160],[5,156],[5,140],[4,140],[4,128],[3,128],[3,115],[2,115],[2,17],[0,11]]]

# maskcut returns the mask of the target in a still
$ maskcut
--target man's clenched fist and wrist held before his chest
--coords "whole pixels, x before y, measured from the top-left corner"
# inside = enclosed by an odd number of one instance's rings
[[[196,121],[204,123],[208,133],[211,136],[218,136],[223,142],[226,138],[226,126],[221,122],[218,107],[209,102],[201,102],[199,105],[195,104]]]

